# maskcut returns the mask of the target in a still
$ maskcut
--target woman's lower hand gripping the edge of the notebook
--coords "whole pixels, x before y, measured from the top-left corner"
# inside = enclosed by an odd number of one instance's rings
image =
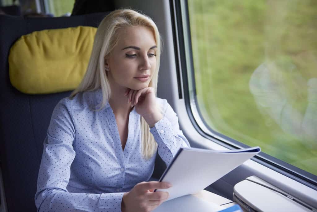
[[[168,192],[153,192],[154,189],[168,189],[170,187],[171,185],[166,182],[140,182],[123,195],[121,211],[150,212],[169,198]]]

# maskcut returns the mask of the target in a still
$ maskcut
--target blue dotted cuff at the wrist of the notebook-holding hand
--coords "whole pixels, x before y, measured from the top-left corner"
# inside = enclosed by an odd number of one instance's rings
[[[124,192],[101,194],[99,211],[101,212],[121,212],[121,202]]]

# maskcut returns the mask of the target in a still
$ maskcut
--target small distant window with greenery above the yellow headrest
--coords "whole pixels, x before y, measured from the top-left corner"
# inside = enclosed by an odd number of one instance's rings
[[[46,0],[46,8],[55,17],[70,16],[74,7],[75,0]]]

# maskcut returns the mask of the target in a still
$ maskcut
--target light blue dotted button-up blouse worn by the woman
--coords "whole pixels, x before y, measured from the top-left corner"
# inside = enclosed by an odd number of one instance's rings
[[[121,211],[124,192],[148,181],[156,154],[141,153],[140,115],[129,114],[128,138],[122,145],[113,110],[102,100],[101,89],[62,99],[55,107],[40,165],[35,203],[38,211]],[[178,117],[165,99],[159,122],[150,129],[158,152],[168,165],[180,147],[189,147]]]

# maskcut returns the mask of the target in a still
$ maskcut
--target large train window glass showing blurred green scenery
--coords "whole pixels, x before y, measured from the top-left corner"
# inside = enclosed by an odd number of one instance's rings
[[[317,175],[317,1],[188,0],[202,118]]]

